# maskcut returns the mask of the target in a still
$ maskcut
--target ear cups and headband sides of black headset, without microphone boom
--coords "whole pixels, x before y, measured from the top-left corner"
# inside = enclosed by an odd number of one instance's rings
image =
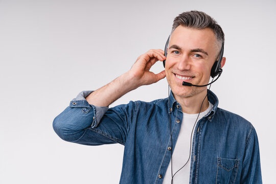
[[[167,39],[166,45],[165,45],[165,56],[167,57],[167,49],[168,49],[168,45],[169,45],[169,40],[170,40],[170,36]],[[214,63],[214,65],[212,66],[211,69],[211,77],[214,78],[217,75],[221,75],[222,73],[222,68],[221,68],[221,60],[222,60],[222,56],[223,56],[223,51],[224,51],[224,42],[222,42],[221,45],[221,50],[220,50],[220,54],[219,54],[219,59]],[[166,60],[163,61],[163,66],[165,67],[165,63]]]

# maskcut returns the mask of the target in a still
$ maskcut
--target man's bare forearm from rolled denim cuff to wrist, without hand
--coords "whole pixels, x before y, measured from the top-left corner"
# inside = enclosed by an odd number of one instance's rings
[[[85,99],[89,104],[107,107],[129,91],[139,87],[133,82],[133,78],[128,73],[121,75],[105,86],[97,89]]]

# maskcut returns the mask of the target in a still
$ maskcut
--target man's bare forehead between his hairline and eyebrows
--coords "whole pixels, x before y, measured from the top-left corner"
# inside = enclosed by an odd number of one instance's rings
[[[200,48],[208,50],[211,53],[216,53],[218,49],[215,33],[210,28],[198,30],[178,26],[171,34],[169,47],[173,44],[183,49]]]

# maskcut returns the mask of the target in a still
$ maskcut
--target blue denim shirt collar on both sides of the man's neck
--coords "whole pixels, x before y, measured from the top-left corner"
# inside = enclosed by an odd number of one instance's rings
[[[208,120],[209,121],[212,121],[213,120],[213,117],[215,115],[215,112],[218,108],[218,98],[217,96],[209,89],[207,89],[208,91],[208,100],[209,102],[211,102],[213,104],[213,108],[210,110],[210,112],[208,112],[203,118],[207,118],[208,117]],[[181,106],[180,104],[175,100],[174,96],[173,96],[173,93],[172,93],[172,90],[171,90],[171,93],[170,93],[170,97],[169,97],[169,101],[168,101],[168,112],[170,113],[171,111],[173,111],[174,109],[177,109],[177,110],[181,110]],[[182,111],[182,110],[181,110]]]

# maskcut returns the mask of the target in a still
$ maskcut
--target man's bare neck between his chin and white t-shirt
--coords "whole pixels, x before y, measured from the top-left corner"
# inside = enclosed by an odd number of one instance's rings
[[[188,113],[188,114],[196,114],[199,113],[199,109],[201,106],[201,103],[204,99],[204,97],[207,94],[207,89],[201,91],[200,93],[193,95],[191,97],[179,97],[174,95],[175,100],[181,105],[182,112]],[[208,98],[206,97],[200,112],[205,111],[209,107]]]

